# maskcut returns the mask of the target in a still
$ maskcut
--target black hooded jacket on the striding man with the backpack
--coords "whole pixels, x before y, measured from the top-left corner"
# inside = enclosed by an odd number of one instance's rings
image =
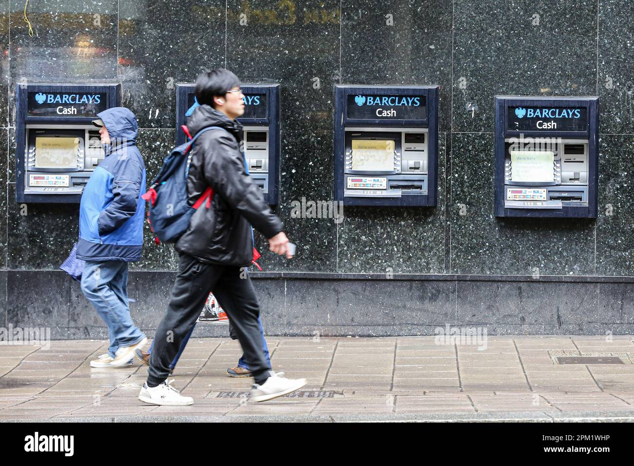
[[[245,171],[240,152],[242,125],[209,105],[201,105],[189,117],[187,127],[194,136],[208,126],[223,129],[205,131],[194,144],[187,179],[188,204],[195,204],[207,186],[214,190],[214,198],[209,209],[204,203],[194,212],[175,247],[201,262],[249,266],[253,258],[251,225],[266,238],[283,231],[284,225]]]

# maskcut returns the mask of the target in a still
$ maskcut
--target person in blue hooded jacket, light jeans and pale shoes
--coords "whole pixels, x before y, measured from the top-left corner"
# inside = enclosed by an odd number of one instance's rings
[[[132,365],[148,339],[130,317],[127,263],[141,259],[145,163],[136,147],[138,125],[127,108],[98,113],[105,159],[94,169],[79,205],[77,257],[86,261],[81,289],[108,327],[108,353],[92,367]]]

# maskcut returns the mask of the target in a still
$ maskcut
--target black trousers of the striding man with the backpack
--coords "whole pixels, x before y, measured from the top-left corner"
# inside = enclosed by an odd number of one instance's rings
[[[169,365],[200,315],[210,291],[231,321],[256,384],[266,382],[269,366],[264,359],[257,322],[260,307],[247,269],[205,264],[183,253],[179,253],[179,256],[172,297],[154,337],[148,386],[156,387],[167,379]]]

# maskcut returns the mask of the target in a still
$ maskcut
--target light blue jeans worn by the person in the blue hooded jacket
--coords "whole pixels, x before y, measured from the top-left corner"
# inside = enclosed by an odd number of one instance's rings
[[[108,355],[111,358],[115,357],[117,349],[133,346],[145,338],[130,317],[127,262],[86,261],[81,277],[81,290],[108,327]]]

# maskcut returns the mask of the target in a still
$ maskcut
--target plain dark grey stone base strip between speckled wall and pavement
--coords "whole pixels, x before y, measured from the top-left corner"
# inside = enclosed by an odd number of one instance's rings
[[[253,273],[267,335],[627,335],[634,278]],[[162,318],[174,273],[131,272],[135,323],[148,336]],[[6,283],[6,285],[5,285]],[[6,294],[6,299],[5,299]],[[0,271],[4,327],[49,327],[53,339],[104,339],[79,283],[61,271]],[[6,316],[6,317],[5,317]],[[226,336],[198,324],[194,336]]]

